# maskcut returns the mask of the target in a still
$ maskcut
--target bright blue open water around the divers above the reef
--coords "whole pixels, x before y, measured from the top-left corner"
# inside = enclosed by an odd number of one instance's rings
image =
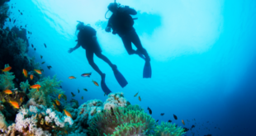
[[[88,64],[84,49],[68,53],[76,45],[76,21],[83,21],[97,30],[102,54],[116,63],[129,82],[121,88],[107,63],[95,57],[98,67],[107,74],[107,87],[113,92],[123,91],[132,105],[145,110],[149,106],[159,122],[173,120],[187,128],[195,124],[187,136],[256,135],[256,1],[118,0],[138,11],[135,29],[151,57],[152,78],[147,79],[142,78],[144,60],[128,55],[120,37],[104,30],[110,2],[11,0],[9,5],[13,4],[10,16],[17,20],[15,25],[26,25],[32,32],[29,42],[36,51],[30,46],[28,54],[40,63],[45,61],[41,65],[45,76],[56,74],[63,81],[69,100],[71,91],[79,105],[107,98],[101,87],[92,83],[92,79],[100,82],[101,78]],[[89,72],[90,78],[80,76]],[[70,80],[69,76],[77,79]],[[134,97],[138,91],[142,101]]]

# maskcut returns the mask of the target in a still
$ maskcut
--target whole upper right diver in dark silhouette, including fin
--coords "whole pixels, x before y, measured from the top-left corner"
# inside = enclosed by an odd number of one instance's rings
[[[112,12],[111,17],[108,20],[106,31],[111,32],[112,34],[118,34],[125,45],[126,51],[128,54],[138,54],[140,58],[145,59],[145,67],[143,72],[144,78],[151,77],[151,66],[150,58],[147,51],[142,47],[140,38],[137,35],[134,25],[134,20],[137,18],[132,18],[130,15],[136,15],[137,12],[128,7],[121,7],[120,4],[112,2],[108,5],[108,11]],[[107,12],[108,12],[107,11]],[[106,12],[106,14],[107,14]],[[106,17],[105,14],[105,17]],[[133,43],[137,50],[132,49],[131,43]]]

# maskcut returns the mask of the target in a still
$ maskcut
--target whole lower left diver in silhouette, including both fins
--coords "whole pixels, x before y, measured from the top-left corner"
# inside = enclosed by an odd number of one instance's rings
[[[103,61],[109,64],[109,66],[112,68],[115,74],[117,82],[119,82],[121,87],[125,87],[128,83],[126,82],[125,77],[123,77],[121,73],[117,70],[116,65],[111,63],[111,61],[107,59],[105,55],[102,54],[102,49],[97,42],[96,30],[94,30],[89,25],[85,26],[81,21],[78,21],[77,30],[79,30],[78,40],[76,40],[78,41],[78,44],[75,47],[69,49],[69,54],[72,53],[73,50],[78,49],[82,45],[83,49],[86,50],[86,58],[88,59],[88,63],[102,77],[102,82],[101,82],[102,90],[106,94],[109,94],[111,92],[105,84],[106,74],[102,73],[102,71],[97,67],[96,63],[94,63],[93,54],[96,54],[96,56],[99,59],[102,59]]]

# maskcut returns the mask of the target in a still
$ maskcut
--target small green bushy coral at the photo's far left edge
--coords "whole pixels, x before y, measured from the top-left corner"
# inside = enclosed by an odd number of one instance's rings
[[[1,90],[13,89],[14,83],[12,82],[12,80],[14,78],[15,76],[11,72],[5,72],[0,74],[0,89]]]

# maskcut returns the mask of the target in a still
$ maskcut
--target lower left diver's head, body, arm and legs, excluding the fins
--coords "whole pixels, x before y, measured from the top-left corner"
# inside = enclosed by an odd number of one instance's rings
[[[78,22],[78,44],[75,47],[70,48],[69,53],[72,53],[73,50],[78,49],[82,45],[83,49],[86,49],[86,58],[88,59],[88,63],[97,73],[101,75],[102,80],[104,80],[106,74],[102,73],[102,71],[97,67],[96,63],[94,63],[93,54],[96,54],[99,59],[102,59],[103,61],[108,63],[113,71],[116,70],[116,65],[111,63],[111,61],[102,54],[102,49],[97,42],[96,30],[94,30],[91,26],[85,26],[83,22]]]

